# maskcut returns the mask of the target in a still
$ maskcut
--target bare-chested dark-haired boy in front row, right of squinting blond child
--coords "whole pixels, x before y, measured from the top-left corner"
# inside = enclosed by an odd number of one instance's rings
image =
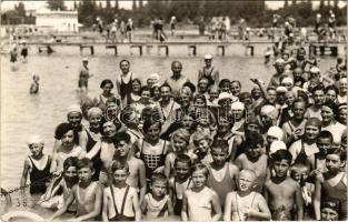
[[[292,208],[297,205],[296,220],[304,218],[300,185],[289,178],[288,170],[292,161],[291,153],[278,150],[272,154],[275,176],[265,183],[265,198],[272,213],[272,220],[294,220]]]

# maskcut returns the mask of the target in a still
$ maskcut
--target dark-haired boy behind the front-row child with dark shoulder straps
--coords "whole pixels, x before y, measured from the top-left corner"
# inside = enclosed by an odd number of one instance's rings
[[[146,192],[147,192],[147,182],[145,165],[142,160],[135,158],[131,150],[130,134],[127,132],[119,132],[115,135],[115,154],[113,160],[120,161],[129,165],[129,176],[127,178],[127,183],[135,189],[140,189],[140,199],[141,203]]]

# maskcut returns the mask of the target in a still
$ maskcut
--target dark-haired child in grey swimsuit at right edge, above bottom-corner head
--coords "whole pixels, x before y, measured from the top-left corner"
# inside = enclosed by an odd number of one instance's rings
[[[328,150],[326,155],[327,172],[316,175],[314,206],[316,219],[320,220],[322,201],[335,200],[340,204],[339,220],[347,220],[347,173],[345,172],[346,151]]]

